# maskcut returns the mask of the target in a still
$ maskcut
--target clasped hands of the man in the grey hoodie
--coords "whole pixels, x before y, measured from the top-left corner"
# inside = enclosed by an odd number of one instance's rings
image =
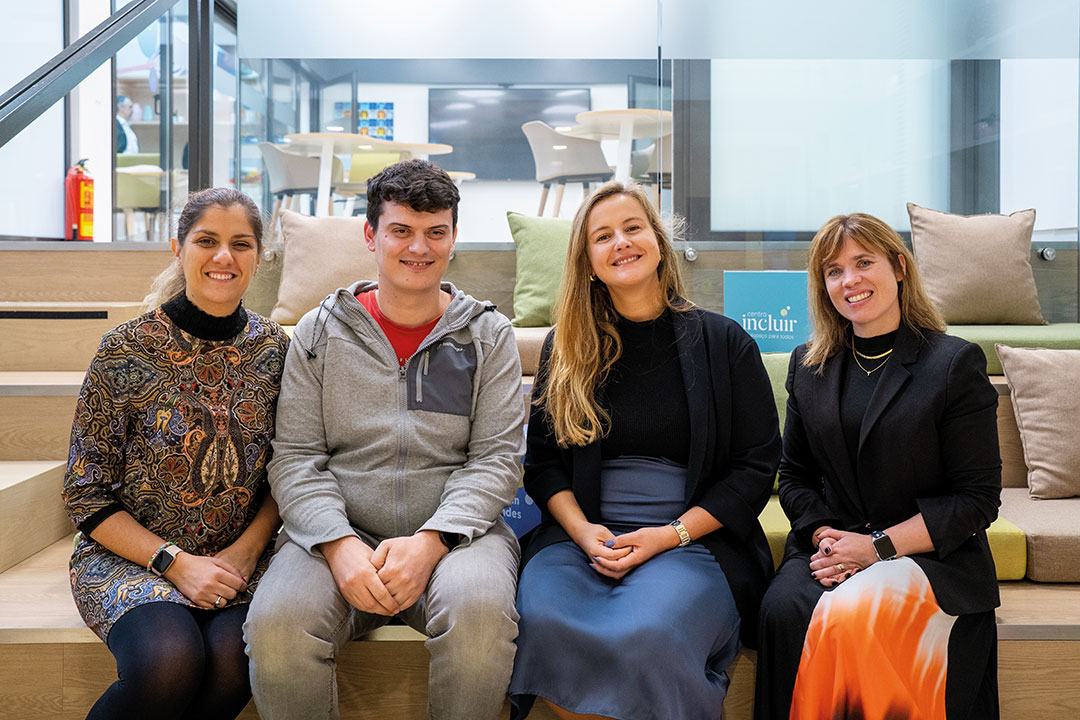
[[[389,538],[375,549],[355,535],[323,543],[320,548],[349,604],[388,616],[420,599],[435,565],[448,552],[432,530]]]

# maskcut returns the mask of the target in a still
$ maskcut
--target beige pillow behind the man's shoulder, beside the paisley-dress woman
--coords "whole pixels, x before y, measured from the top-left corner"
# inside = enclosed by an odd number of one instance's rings
[[[285,261],[270,318],[282,325],[295,325],[337,288],[378,276],[375,254],[364,242],[363,218],[282,210],[281,236]]]

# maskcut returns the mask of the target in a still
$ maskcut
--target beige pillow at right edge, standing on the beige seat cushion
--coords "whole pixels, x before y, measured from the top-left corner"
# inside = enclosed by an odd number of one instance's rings
[[[1080,350],[995,345],[1012,394],[1032,498],[1080,495]]]

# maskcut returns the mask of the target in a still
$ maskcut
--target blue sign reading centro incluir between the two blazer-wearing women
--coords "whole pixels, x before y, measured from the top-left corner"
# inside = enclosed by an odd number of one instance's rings
[[[726,270],[724,314],[762,353],[786,353],[810,337],[805,270]]]

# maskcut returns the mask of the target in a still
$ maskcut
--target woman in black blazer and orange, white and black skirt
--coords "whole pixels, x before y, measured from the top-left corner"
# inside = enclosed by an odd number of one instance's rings
[[[780,463],[792,532],[761,606],[755,717],[997,718],[986,358],[944,335],[877,218],[826,222],[809,268],[814,334],[792,354]]]

